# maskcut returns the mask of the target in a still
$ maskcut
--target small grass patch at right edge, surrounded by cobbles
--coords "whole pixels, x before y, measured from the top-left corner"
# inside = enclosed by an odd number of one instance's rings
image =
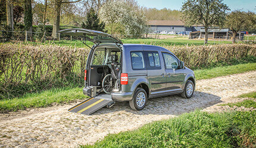
[[[239,97],[241,98],[256,98],[256,92],[250,92],[248,94],[243,94],[240,95]],[[228,105],[229,107],[245,107],[245,108],[256,108],[256,100],[252,99],[246,99],[243,100],[242,102],[236,102],[236,103],[228,103],[228,104],[221,104],[221,106],[226,106]]]

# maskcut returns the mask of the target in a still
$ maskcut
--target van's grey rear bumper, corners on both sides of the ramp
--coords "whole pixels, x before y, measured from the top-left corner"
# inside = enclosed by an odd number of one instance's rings
[[[83,88],[83,94],[92,97],[93,91],[92,88],[86,86]],[[132,100],[133,93],[132,92],[112,92],[111,99],[114,101],[130,101]]]

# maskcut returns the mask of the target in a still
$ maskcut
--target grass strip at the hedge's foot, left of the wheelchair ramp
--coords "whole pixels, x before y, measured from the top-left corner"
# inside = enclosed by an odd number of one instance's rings
[[[48,107],[52,104],[65,104],[76,99],[86,98],[82,88],[62,88],[27,94],[20,98],[0,100],[0,112],[24,110],[25,108]]]

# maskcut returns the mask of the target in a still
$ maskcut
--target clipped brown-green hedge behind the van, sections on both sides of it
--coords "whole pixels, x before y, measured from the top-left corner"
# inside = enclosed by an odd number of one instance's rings
[[[256,45],[166,46],[196,69],[239,61],[256,62]],[[63,86],[82,86],[89,49],[67,46],[0,44],[0,99]],[[249,58],[249,60],[248,60]]]

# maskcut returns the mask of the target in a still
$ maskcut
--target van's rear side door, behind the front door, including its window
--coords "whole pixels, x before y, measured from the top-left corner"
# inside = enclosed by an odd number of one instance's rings
[[[164,70],[163,58],[161,58],[161,53],[157,52],[158,49],[154,48],[157,47],[143,46],[148,82],[151,85],[150,94],[152,95],[163,93],[166,90],[166,71]]]

